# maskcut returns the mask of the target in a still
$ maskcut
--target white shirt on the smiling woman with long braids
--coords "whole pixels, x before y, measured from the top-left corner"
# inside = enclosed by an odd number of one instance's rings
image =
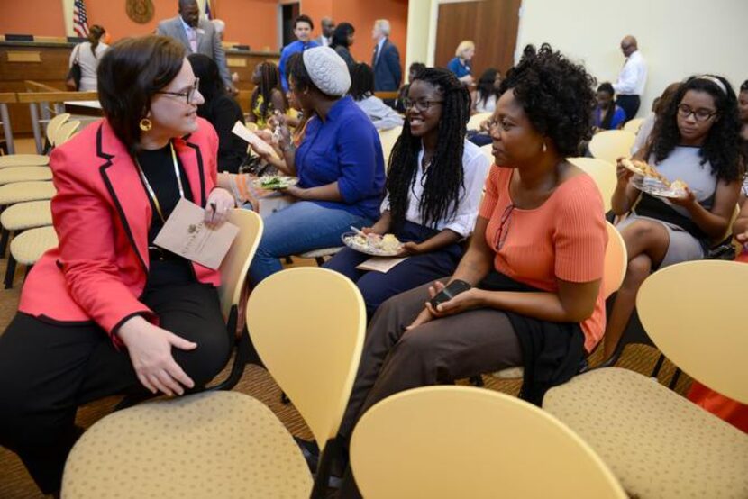
[[[408,200],[406,220],[408,222],[423,225],[423,217],[418,209],[421,203],[421,196],[424,194],[424,168],[421,163],[424,160],[424,148],[418,153],[418,169],[415,173],[415,182],[410,190]],[[475,227],[475,221],[478,218],[480,198],[483,195],[483,184],[486,182],[486,175],[490,161],[483,154],[483,151],[470,141],[465,141],[465,150],[462,152],[462,172],[463,185],[460,199],[457,204],[457,210],[450,220],[440,220],[436,223],[435,229],[443,231],[450,229],[467,238]],[[389,209],[389,195],[382,202],[382,211]]]

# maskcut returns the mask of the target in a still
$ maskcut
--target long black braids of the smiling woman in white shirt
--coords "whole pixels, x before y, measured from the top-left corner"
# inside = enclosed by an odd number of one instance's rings
[[[424,195],[418,206],[424,225],[436,227],[440,220],[450,220],[457,211],[461,189],[464,189],[462,152],[470,119],[470,94],[451,71],[425,68],[413,81],[421,80],[442,91],[442,118],[439,138],[431,164],[424,172]],[[415,183],[421,139],[410,132],[406,120],[403,132],[389,156],[387,189],[393,229],[398,231],[406,220],[409,196]]]

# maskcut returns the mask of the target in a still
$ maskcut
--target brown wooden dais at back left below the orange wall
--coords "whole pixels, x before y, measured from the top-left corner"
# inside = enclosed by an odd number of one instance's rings
[[[39,38],[39,37],[37,37]],[[65,90],[65,77],[68,76],[68,61],[75,43],[66,41],[0,41],[0,93],[26,92],[23,82],[33,80],[44,85]],[[239,75],[240,90],[251,90],[252,73],[263,60],[278,63],[278,52],[251,50],[226,50],[226,62],[230,73]],[[249,108],[249,102],[242,102],[242,109]],[[16,136],[32,133],[31,115],[28,104],[8,104],[13,132]]]

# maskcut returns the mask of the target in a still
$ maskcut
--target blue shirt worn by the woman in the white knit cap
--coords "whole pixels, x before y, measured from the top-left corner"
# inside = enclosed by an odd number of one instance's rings
[[[338,183],[342,203],[315,201],[326,208],[345,210],[372,220],[379,218],[385,186],[384,155],[379,133],[351,97],[342,97],[323,122],[306,125],[304,141],[296,150],[299,186]]]

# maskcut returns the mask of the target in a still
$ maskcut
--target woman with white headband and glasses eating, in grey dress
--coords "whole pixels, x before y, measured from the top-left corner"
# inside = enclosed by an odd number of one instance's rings
[[[703,259],[729,228],[743,182],[740,120],[733,87],[723,77],[689,77],[680,86],[635,159],[648,161],[686,195],[664,199],[639,191],[618,164],[612,206],[628,250],[628,268],[607,322],[609,357],[634,312],[643,280],[658,268]],[[638,203],[637,203],[638,200]]]

